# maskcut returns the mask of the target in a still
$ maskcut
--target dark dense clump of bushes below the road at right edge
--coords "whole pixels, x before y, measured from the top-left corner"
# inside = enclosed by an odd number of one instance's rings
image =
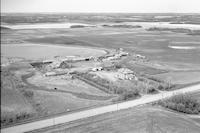
[[[161,106],[187,114],[199,114],[200,102],[189,94],[175,95],[167,100],[158,102]]]

